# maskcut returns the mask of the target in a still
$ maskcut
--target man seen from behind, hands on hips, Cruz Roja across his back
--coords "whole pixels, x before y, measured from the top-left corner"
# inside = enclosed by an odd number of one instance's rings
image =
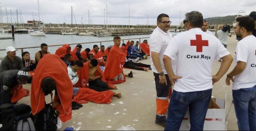
[[[186,13],[183,23],[187,31],[174,37],[163,57],[164,67],[174,84],[164,130],[178,131],[189,107],[190,130],[200,131],[204,128],[213,84],[228,71],[233,58],[216,37],[201,30],[202,13]],[[171,59],[177,62],[176,75]],[[223,62],[218,73],[211,76],[214,59]]]

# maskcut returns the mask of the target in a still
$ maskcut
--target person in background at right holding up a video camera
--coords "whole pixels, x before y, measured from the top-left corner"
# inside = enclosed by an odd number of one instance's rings
[[[229,25],[219,25],[219,30],[217,31],[217,38],[220,40],[221,44],[227,48],[228,36],[231,37],[230,26]],[[219,60],[221,62],[221,59]]]

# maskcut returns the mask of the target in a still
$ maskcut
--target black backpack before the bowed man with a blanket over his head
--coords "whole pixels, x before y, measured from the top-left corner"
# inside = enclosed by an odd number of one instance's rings
[[[52,97],[52,93],[51,93]],[[31,118],[34,121],[34,125],[37,131],[56,131],[57,130],[57,114],[55,109],[52,108],[51,103],[45,104],[45,108],[42,109],[39,113]]]

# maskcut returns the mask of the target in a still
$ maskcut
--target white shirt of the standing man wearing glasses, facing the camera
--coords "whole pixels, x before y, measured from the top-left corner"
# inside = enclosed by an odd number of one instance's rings
[[[156,29],[154,29],[149,39],[150,56],[151,56],[151,51],[159,53],[159,59],[160,59],[161,67],[163,69],[164,74],[167,74],[164,68],[164,62],[163,62],[164,51],[166,47],[171,43],[172,40],[173,40],[173,35],[169,31],[167,31],[167,33],[164,32],[159,27],[156,27]],[[152,71],[155,73],[159,73],[157,72],[156,67],[153,64],[152,59],[150,59],[150,62],[151,62]]]

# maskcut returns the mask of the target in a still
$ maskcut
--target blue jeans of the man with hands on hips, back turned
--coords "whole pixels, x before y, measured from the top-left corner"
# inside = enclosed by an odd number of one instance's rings
[[[178,131],[189,107],[190,131],[202,131],[204,119],[211,100],[212,89],[195,92],[173,90],[168,107],[165,131]]]

